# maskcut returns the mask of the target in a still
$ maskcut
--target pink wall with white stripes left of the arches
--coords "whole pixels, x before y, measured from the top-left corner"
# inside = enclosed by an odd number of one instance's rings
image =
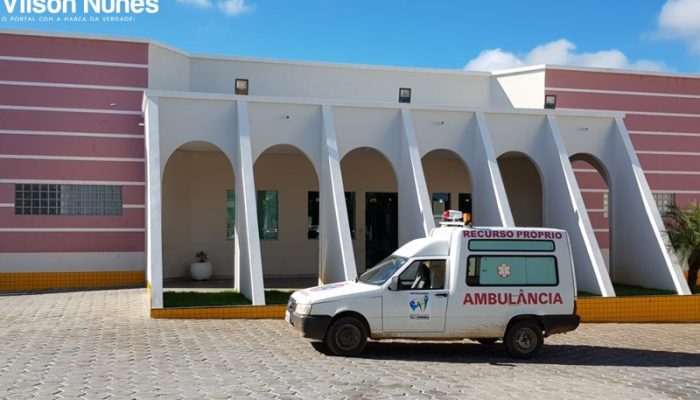
[[[14,204],[15,181],[123,181],[136,184],[123,186],[124,204],[137,206],[121,216],[25,216],[0,207],[3,230],[38,229],[0,232],[0,252],[144,251],[138,88],[148,86],[148,44],[0,34],[0,56],[10,58],[0,60],[0,80],[16,82],[0,85],[0,204]],[[134,232],[109,231],[119,229]]]

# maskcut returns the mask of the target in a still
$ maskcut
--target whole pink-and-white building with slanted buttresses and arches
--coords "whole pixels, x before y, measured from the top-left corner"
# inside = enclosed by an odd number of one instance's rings
[[[145,275],[160,308],[164,280],[205,251],[261,304],[263,277],[353,279],[453,208],[481,226],[566,229],[580,290],[689,293],[655,198],[700,194],[697,77],[0,40],[0,290]]]

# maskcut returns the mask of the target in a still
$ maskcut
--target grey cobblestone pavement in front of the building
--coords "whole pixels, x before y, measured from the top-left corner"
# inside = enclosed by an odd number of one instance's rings
[[[700,398],[698,324],[584,324],[531,362],[469,341],[346,359],[284,321],[152,320],[145,303],[138,289],[0,296],[0,398]]]

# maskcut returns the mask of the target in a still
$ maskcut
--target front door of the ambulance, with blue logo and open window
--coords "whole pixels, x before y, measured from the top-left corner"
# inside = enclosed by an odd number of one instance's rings
[[[447,276],[444,258],[417,259],[405,268],[383,295],[384,333],[443,332]]]

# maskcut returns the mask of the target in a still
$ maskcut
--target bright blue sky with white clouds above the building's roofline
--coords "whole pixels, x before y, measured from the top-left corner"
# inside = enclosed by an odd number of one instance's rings
[[[700,0],[160,0],[156,14],[111,23],[14,22],[19,14],[7,2],[2,28],[153,38],[193,53],[447,69],[546,62],[700,70]]]

